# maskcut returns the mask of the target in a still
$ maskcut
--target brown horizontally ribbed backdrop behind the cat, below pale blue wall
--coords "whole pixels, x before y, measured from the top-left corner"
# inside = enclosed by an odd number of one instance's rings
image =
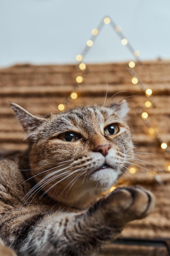
[[[142,184],[155,193],[155,212],[141,222],[134,222],[124,230],[124,236],[170,237],[170,156],[160,148],[155,137],[137,115],[136,108],[144,106],[146,96],[139,85],[131,83],[126,71],[126,63],[87,65],[88,74],[84,84],[78,88],[78,98],[70,101],[73,106],[103,104],[108,83],[107,101],[128,97],[131,108],[129,126],[133,135],[135,152],[140,159],[136,164],[138,173],[127,174],[129,184]],[[162,138],[170,146],[170,61],[149,61],[135,67],[135,71],[145,84],[153,90],[156,108],[147,110],[150,121]],[[20,104],[38,115],[55,112],[76,85],[76,76],[82,75],[75,65],[15,65],[0,69],[0,148],[25,149],[24,132],[9,108],[9,101]],[[120,92],[120,93],[119,93]],[[118,93],[118,94],[117,94]],[[129,97],[132,96],[132,97]],[[110,101],[112,102],[112,100]],[[152,175],[154,174],[154,175]],[[157,175],[159,174],[159,175]],[[143,176],[141,176],[143,175]]]

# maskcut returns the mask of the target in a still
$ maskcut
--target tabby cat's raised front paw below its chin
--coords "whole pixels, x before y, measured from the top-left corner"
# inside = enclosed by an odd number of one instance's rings
[[[102,201],[105,220],[124,226],[127,222],[142,219],[155,207],[155,197],[141,188],[118,188]]]

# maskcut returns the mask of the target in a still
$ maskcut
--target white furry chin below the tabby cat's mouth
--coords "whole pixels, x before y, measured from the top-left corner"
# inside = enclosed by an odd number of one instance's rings
[[[92,173],[90,180],[96,184],[96,189],[105,191],[110,189],[111,186],[117,182],[120,173],[120,171],[115,170],[110,166],[103,165],[101,168]]]

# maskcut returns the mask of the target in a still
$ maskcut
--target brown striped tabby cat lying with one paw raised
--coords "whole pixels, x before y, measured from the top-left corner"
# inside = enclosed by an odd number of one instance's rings
[[[45,117],[10,104],[29,141],[0,160],[0,236],[13,255],[94,256],[153,211],[144,189],[106,193],[133,157],[125,100]]]

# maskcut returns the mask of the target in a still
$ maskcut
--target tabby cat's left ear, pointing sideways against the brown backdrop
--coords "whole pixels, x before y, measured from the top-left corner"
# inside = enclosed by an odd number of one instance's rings
[[[37,117],[16,103],[10,102],[10,106],[13,109],[16,118],[20,121],[20,124],[24,128],[24,131],[27,133],[28,137],[31,137],[31,133],[33,133],[37,127],[39,127],[43,122],[43,117]]]

